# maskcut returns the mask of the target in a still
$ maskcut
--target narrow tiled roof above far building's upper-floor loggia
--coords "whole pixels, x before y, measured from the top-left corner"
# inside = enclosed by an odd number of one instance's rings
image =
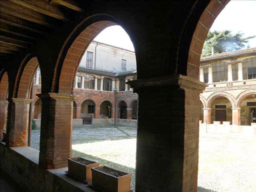
[[[111,71],[102,71],[98,69],[90,69],[90,68],[85,68],[85,67],[79,67],[79,72],[86,72],[89,74],[97,74],[97,75],[103,75],[103,76],[112,76],[112,77],[117,77],[117,76],[128,76],[130,74],[134,74],[134,71],[123,71],[120,73],[116,72],[111,72]]]

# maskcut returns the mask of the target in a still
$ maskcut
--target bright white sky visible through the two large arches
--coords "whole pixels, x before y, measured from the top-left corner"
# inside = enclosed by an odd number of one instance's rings
[[[213,30],[231,30],[234,33],[242,32],[244,37],[256,35],[256,0],[233,0],[217,16]],[[133,50],[133,43],[126,31],[120,26],[107,27],[96,38],[95,41],[107,43],[112,46]],[[250,40],[249,46],[256,47],[256,38]]]

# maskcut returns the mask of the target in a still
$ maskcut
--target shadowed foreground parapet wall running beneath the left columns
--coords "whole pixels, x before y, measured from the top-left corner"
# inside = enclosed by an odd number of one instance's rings
[[[88,184],[71,179],[65,174],[67,167],[44,170],[39,167],[39,151],[29,146],[7,148],[0,142],[1,174],[8,175],[22,191],[95,192]]]

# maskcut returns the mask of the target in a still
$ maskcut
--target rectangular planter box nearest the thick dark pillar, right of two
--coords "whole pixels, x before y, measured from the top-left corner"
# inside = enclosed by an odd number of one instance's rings
[[[92,168],[93,186],[107,192],[130,192],[131,173],[100,166]]]

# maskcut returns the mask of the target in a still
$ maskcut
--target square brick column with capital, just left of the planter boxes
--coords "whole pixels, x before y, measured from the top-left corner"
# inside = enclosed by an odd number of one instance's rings
[[[67,167],[72,154],[72,114],[74,96],[58,93],[37,95],[42,100],[39,166]]]

